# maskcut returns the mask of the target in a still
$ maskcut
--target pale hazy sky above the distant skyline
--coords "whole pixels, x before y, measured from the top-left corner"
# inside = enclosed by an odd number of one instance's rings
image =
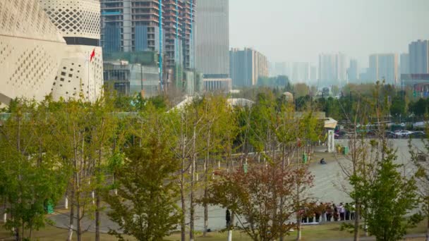
[[[367,67],[369,54],[402,53],[429,39],[429,0],[229,0],[230,46],[270,61],[318,63],[342,51]]]

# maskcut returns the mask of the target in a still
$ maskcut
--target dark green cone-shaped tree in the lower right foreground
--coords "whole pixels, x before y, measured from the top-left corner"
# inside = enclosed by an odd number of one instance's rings
[[[396,159],[394,152],[386,149],[385,158],[375,167],[375,179],[362,189],[368,231],[380,241],[401,240],[406,230],[421,220],[418,214],[406,217],[418,206],[416,180],[401,175],[398,169],[403,165],[394,164]]]

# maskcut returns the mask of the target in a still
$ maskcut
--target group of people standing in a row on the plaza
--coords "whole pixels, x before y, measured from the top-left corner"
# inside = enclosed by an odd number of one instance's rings
[[[302,223],[348,221],[355,218],[355,205],[349,203],[340,203],[338,205],[332,203],[313,203],[301,209],[300,214]]]

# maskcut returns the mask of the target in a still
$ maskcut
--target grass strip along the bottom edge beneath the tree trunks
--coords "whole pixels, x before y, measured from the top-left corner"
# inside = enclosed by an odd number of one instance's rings
[[[346,231],[339,230],[339,223],[330,223],[326,225],[312,225],[312,226],[304,226],[303,227],[303,239],[305,241],[312,241],[312,240],[338,240],[341,238],[347,238],[352,237],[351,233],[348,233]],[[425,221],[420,223],[417,228],[413,228],[410,230],[409,233],[425,233]],[[188,235],[187,235],[188,236]],[[0,227],[0,240],[8,240],[8,238],[11,237],[11,234],[4,230],[4,228]],[[35,231],[33,235],[34,240],[41,240],[41,241],[54,241],[54,240],[66,240],[67,237],[67,230],[64,230],[62,228],[56,228],[49,226],[47,228],[44,228],[40,231]],[[73,240],[75,239],[75,233],[73,234]],[[286,240],[295,240],[296,232],[292,232],[291,235],[286,237]],[[85,233],[83,235],[84,241],[90,241],[95,239],[94,233]],[[114,241],[116,238],[111,235],[102,234],[101,240],[105,241]],[[129,237],[129,240],[134,240],[133,238]],[[166,240],[169,241],[176,241],[180,240],[180,234],[175,233],[174,235],[171,235],[169,237],[166,237]],[[195,235],[195,240],[207,240],[207,241],[224,241],[226,240],[226,233],[210,233],[209,237],[202,237],[202,233],[197,233]],[[243,234],[234,232],[233,233],[233,240],[237,241],[250,241],[250,238]],[[424,238],[416,238],[416,239],[409,239],[413,241],[420,241],[424,240]]]

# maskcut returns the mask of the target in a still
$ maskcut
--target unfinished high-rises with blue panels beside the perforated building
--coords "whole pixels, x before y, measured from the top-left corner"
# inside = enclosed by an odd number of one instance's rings
[[[167,67],[193,68],[195,0],[101,0],[101,8],[104,52],[157,51]]]

